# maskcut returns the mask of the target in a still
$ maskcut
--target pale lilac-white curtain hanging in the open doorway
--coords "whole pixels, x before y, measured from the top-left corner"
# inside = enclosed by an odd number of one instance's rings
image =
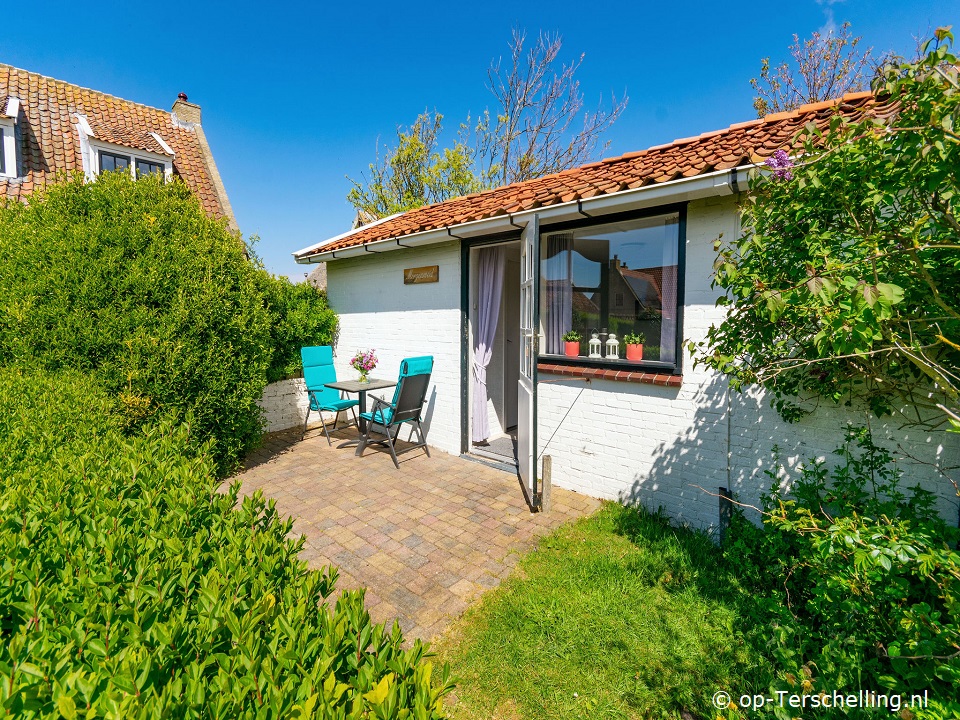
[[[505,253],[502,247],[477,253],[477,324],[473,336],[473,442],[490,436],[487,418],[487,366],[493,356],[493,338],[500,318]]]

